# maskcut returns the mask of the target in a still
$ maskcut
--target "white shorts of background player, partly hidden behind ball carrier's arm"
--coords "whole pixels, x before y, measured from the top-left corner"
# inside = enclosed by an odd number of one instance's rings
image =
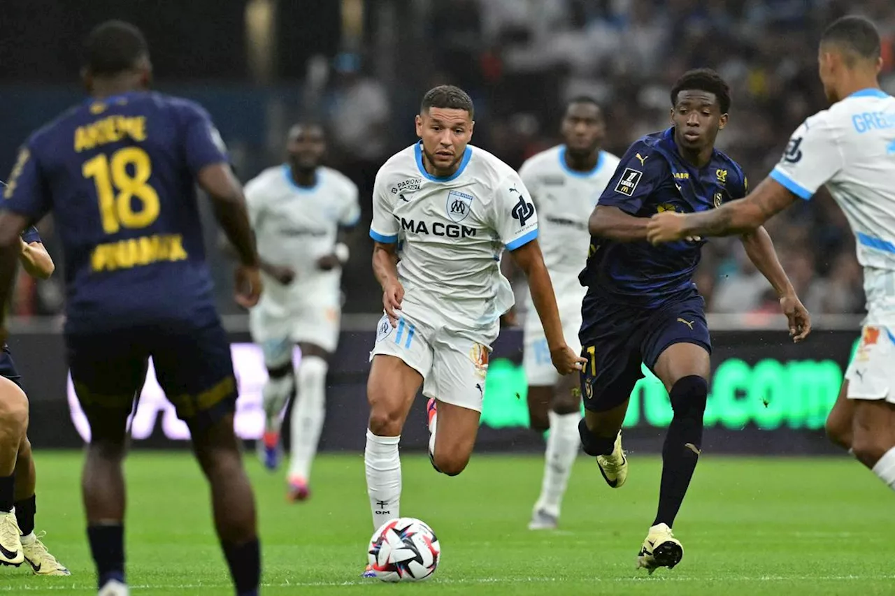
[[[566,343],[575,353],[579,353],[581,352],[581,344],[578,341],[578,330],[581,329],[581,301],[565,300],[558,306],[559,320],[562,321],[562,334],[566,338]],[[553,361],[550,360],[550,348],[547,347],[547,336],[544,336],[541,319],[538,318],[534,307],[525,315],[522,345],[522,364],[529,387],[556,385],[560,376],[553,368]]]

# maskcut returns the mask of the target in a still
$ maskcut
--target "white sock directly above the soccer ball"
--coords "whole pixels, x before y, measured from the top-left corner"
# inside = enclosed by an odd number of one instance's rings
[[[400,517],[401,456],[400,437],[378,437],[367,430],[363,464],[367,470],[367,494],[373,513],[373,529]]]

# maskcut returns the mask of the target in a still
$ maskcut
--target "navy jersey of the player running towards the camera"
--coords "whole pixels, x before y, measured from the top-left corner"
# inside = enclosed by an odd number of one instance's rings
[[[598,204],[635,217],[669,210],[693,213],[745,197],[746,185],[737,162],[717,149],[702,168],[681,158],[674,128],[669,128],[648,134],[627,149]],[[703,243],[653,246],[646,241],[618,243],[592,236],[590,256],[578,279],[588,286],[588,294],[652,308],[693,290]]]

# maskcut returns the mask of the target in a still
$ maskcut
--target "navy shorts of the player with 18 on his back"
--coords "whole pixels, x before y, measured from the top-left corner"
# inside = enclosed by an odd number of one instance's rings
[[[72,383],[84,413],[131,412],[152,357],[177,417],[200,430],[233,413],[236,379],[224,328],[134,326],[65,336]]]

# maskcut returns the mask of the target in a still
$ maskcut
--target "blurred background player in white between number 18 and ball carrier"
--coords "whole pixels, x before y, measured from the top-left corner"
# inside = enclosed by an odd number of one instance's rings
[[[354,183],[320,165],[325,150],[320,125],[295,124],[286,142],[288,163],[269,167],[245,186],[267,290],[249,318],[251,336],[268,369],[260,456],[269,469],[277,468],[280,417],[294,390],[287,473],[287,497],[293,501],[310,496],[311,462],[325,413],[327,361],[338,343],[341,266],[348,259],[339,234],[361,216]],[[302,359],[293,370],[296,344]]]

